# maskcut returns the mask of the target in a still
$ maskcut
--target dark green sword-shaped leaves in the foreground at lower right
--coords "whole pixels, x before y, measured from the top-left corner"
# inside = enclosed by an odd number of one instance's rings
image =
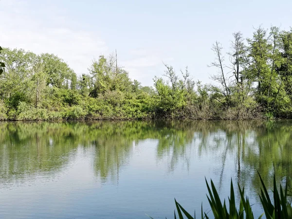
[[[291,202],[287,199],[288,183],[286,183],[285,190],[283,190],[282,185],[280,185],[280,191],[277,189],[276,179],[274,176],[274,188],[273,188],[273,198],[274,202],[271,201],[270,195],[267,191],[265,183],[262,181],[261,176],[261,193],[259,195],[262,208],[264,213],[258,217],[261,219],[265,214],[267,219],[292,219],[292,206]],[[208,188],[209,196],[207,195],[211,211],[213,213],[214,219],[255,219],[252,206],[249,202],[248,197],[244,197],[244,188],[240,188],[238,184],[240,193],[240,203],[239,209],[236,207],[235,192],[233,188],[233,183],[231,181],[230,185],[230,197],[228,198],[229,210],[226,207],[226,202],[224,200],[223,204],[219,198],[217,189],[211,180],[211,187],[206,180],[206,185]],[[175,200],[176,210],[179,219],[184,219],[183,215],[187,219],[195,219]],[[201,207],[201,219],[209,219],[208,213],[203,212]],[[151,217],[150,217],[151,218]],[[177,218],[176,212],[174,212],[174,218]],[[153,219],[153,218],[151,218]]]

